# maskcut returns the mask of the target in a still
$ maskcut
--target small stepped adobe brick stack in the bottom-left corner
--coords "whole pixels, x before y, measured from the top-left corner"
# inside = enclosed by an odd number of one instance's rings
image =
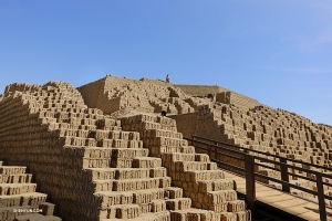
[[[0,220],[61,221],[53,215],[54,204],[48,203],[48,194],[35,192],[32,175],[27,167],[3,166],[0,161]],[[43,215],[45,214],[45,215]]]

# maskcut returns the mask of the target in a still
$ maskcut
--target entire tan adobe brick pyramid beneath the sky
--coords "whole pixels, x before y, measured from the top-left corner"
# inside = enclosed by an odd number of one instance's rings
[[[162,109],[172,116],[158,116]],[[40,220],[242,221],[250,211],[234,181],[184,135],[331,165],[331,131],[216,86],[111,75],[77,90],[64,82],[15,83],[0,95],[0,160],[22,171],[0,171],[14,177],[28,169],[37,183],[31,192],[44,197],[24,207],[42,208]],[[22,191],[1,180],[0,219],[19,220],[23,214],[8,211],[23,207],[14,200],[24,199]]]

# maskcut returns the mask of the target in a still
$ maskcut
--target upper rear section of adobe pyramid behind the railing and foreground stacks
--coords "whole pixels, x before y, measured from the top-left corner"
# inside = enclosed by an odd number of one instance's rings
[[[176,85],[163,81],[135,81],[107,75],[77,90],[86,104],[95,101],[94,107],[106,113],[108,108],[112,109],[110,113],[116,114],[114,112],[117,110],[120,115],[131,109],[152,113],[167,110],[172,115],[169,117],[176,119],[177,129],[185,137],[196,135],[328,168],[332,165],[330,125],[314,124],[295,113],[268,107],[219,86]],[[95,94],[89,93],[91,91]],[[242,167],[231,158],[224,157],[220,160]],[[258,168],[258,171],[281,178],[276,170]],[[292,179],[291,182],[298,186],[314,188],[314,183],[308,180]],[[280,188],[278,183],[260,181]],[[324,191],[332,194],[329,188]],[[292,190],[292,193],[312,197],[297,190]],[[328,203],[332,206],[332,202]]]

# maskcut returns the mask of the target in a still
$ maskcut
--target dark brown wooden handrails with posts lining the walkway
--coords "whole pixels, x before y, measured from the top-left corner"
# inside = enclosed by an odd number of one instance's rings
[[[197,140],[197,138],[200,139],[200,140]],[[310,164],[310,162],[304,162],[304,161],[301,161],[301,160],[288,159],[288,158],[276,156],[276,155],[272,155],[272,154],[268,154],[268,152],[263,152],[263,151],[259,151],[259,150],[252,150],[252,149],[243,148],[243,147],[240,147],[240,146],[237,146],[237,145],[226,144],[226,143],[221,143],[221,141],[218,141],[218,140],[207,139],[207,138],[198,137],[198,136],[193,136],[193,138],[185,138],[185,139],[191,141],[191,143],[197,143],[197,144],[203,145],[203,146],[207,146],[207,148],[205,148],[205,147],[200,147],[200,146],[197,146],[197,145],[195,146],[193,144],[196,148],[207,150],[211,161],[216,161],[217,164],[221,164],[221,165],[227,165],[227,167],[231,167],[236,170],[246,171],[246,192],[247,192],[246,193],[246,200],[247,200],[247,203],[248,203],[248,208],[251,210],[253,217],[255,217],[255,200],[256,200],[256,188],[255,188],[255,180],[256,179],[255,179],[255,177],[261,177],[263,179],[281,183],[282,185],[282,191],[290,192],[290,188],[294,188],[294,189],[301,190],[303,192],[308,192],[308,193],[317,196],[318,200],[319,200],[320,218],[321,218],[322,221],[326,220],[326,208],[325,208],[324,200],[325,199],[332,200],[332,197],[324,194],[323,186],[325,185],[325,186],[332,187],[332,185],[323,182],[323,177],[332,179],[332,176],[326,175],[326,173],[322,173],[322,172],[319,172],[319,171],[314,171],[314,170],[311,170],[311,169],[305,169],[305,168],[302,168],[302,167],[288,165],[287,162],[288,161],[298,162],[298,164],[302,164],[302,165],[305,165],[305,166],[315,167],[315,168],[319,168],[319,169],[324,169],[325,171],[326,170],[332,171],[330,168],[319,166],[319,165],[313,165],[313,164]],[[201,140],[205,140],[205,141],[201,141]],[[214,144],[211,144],[211,143],[214,143]],[[225,147],[225,146],[227,146],[227,147]],[[235,149],[229,148],[229,147],[234,147]],[[212,159],[212,148],[215,148],[214,155],[215,155],[216,159]],[[222,150],[224,152],[221,152],[219,150]],[[226,154],[225,151],[228,151],[228,154]],[[259,154],[260,156],[253,156],[250,152],[256,152],[256,154]],[[234,165],[230,165],[230,164],[227,164],[227,162],[220,162],[220,160],[218,160],[218,156],[227,156],[227,157],[230,157],[230,158],[235,158],[237,160],[242,160],[245,162],[245,168],[245,168],[241,169],[237,166],[234,166]],[[239,157],[239,156],[241,156],[241,157]],[[279,161],[268,159],[266,157],[273,157],[274,159],[276,158],[279,159]],[[255,162],[256,159],[261,160],[261,161],[266,161],[266,162],[270,162],[270,164],[273,164],[273,165],[278,165],[278,166],[280,166],[280,169],[272,168],[272,167],[266,166],[266,165],[261,165],[259,162]],[[263,175],[258,173],[258,172],[255,172],[255,165],[280,171],[281,172],[281,180],[274,179],[274,178],[271,178],[271,177],[268,177],[268,176],[263,176]],[[294,169],[294,170],[298,170],[298,171],[304,171],[307,173],[312,173],[312,175],[315,176],[315,180],[313,180],[311,178],[300,176],[300,175],[297,175],[297,173],[292,173],[292,172],[288,171],[289,169]],[[302,187],[290,183],[289,182],[289,176],[301,177],[301,178],[307,179],[309,181],[315,182],[318,191],[313,191],[313,190],[310,190],[310,189],[302,188]]]

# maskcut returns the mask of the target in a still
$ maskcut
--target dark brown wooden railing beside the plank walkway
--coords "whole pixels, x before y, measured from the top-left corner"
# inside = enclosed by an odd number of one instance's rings
[[[332,179],[332,169],[319,165],[313,165],[310,162],[304,162],[297,159],[289,159],[286,157],[276,156],[272,154],[248,149],[240,147],[238,145],[226,144],[212,139],[207,139],[198,136],[193,136],[191,138],[185,138],[191,143],[196,148],[205,150],[211,161],[218,164],[221,168],[231,168],[232,172],[243,176],[246,178],[246,201],[248,208],[255,217],[255,202],[256,202],[256,187],[255,183],[257,178],[264,180],[270,180],[277,183],[281,183],[282,191],[290,192],[290,188],[301,190],[303,192],[310,193],[318,197],[320,219],[321,221],[326,221],[326,207],[325,200],[332,200],[332,197],[324,194],[324,186],[332,187],[332,183],[323,181],[323,178]],[[228,160],[220,160],[222,157],[228,159],[235,159],[242,166],[236,166],[227,162]],[[264,165],[262,162],[268,162],[272,166]],[[289,164],[301,164],[302,167],[289,165]],[[310,169],[303,168],[308,167]],[[271,170],[277,170],[281,173],[281,179],[276,179],[269,176],[261,175],[257,172],[258,167],[268,168]],[[324,172],[321,172],[322,170]],[[307,176],[295,173],[294,171],[307,172]],[[309,175],[309,176],[308,176]],[[289,181],[289,177],[297,177],[312,183],[315,183],[317,191],[312,189],[307,189],[299,187]]]

